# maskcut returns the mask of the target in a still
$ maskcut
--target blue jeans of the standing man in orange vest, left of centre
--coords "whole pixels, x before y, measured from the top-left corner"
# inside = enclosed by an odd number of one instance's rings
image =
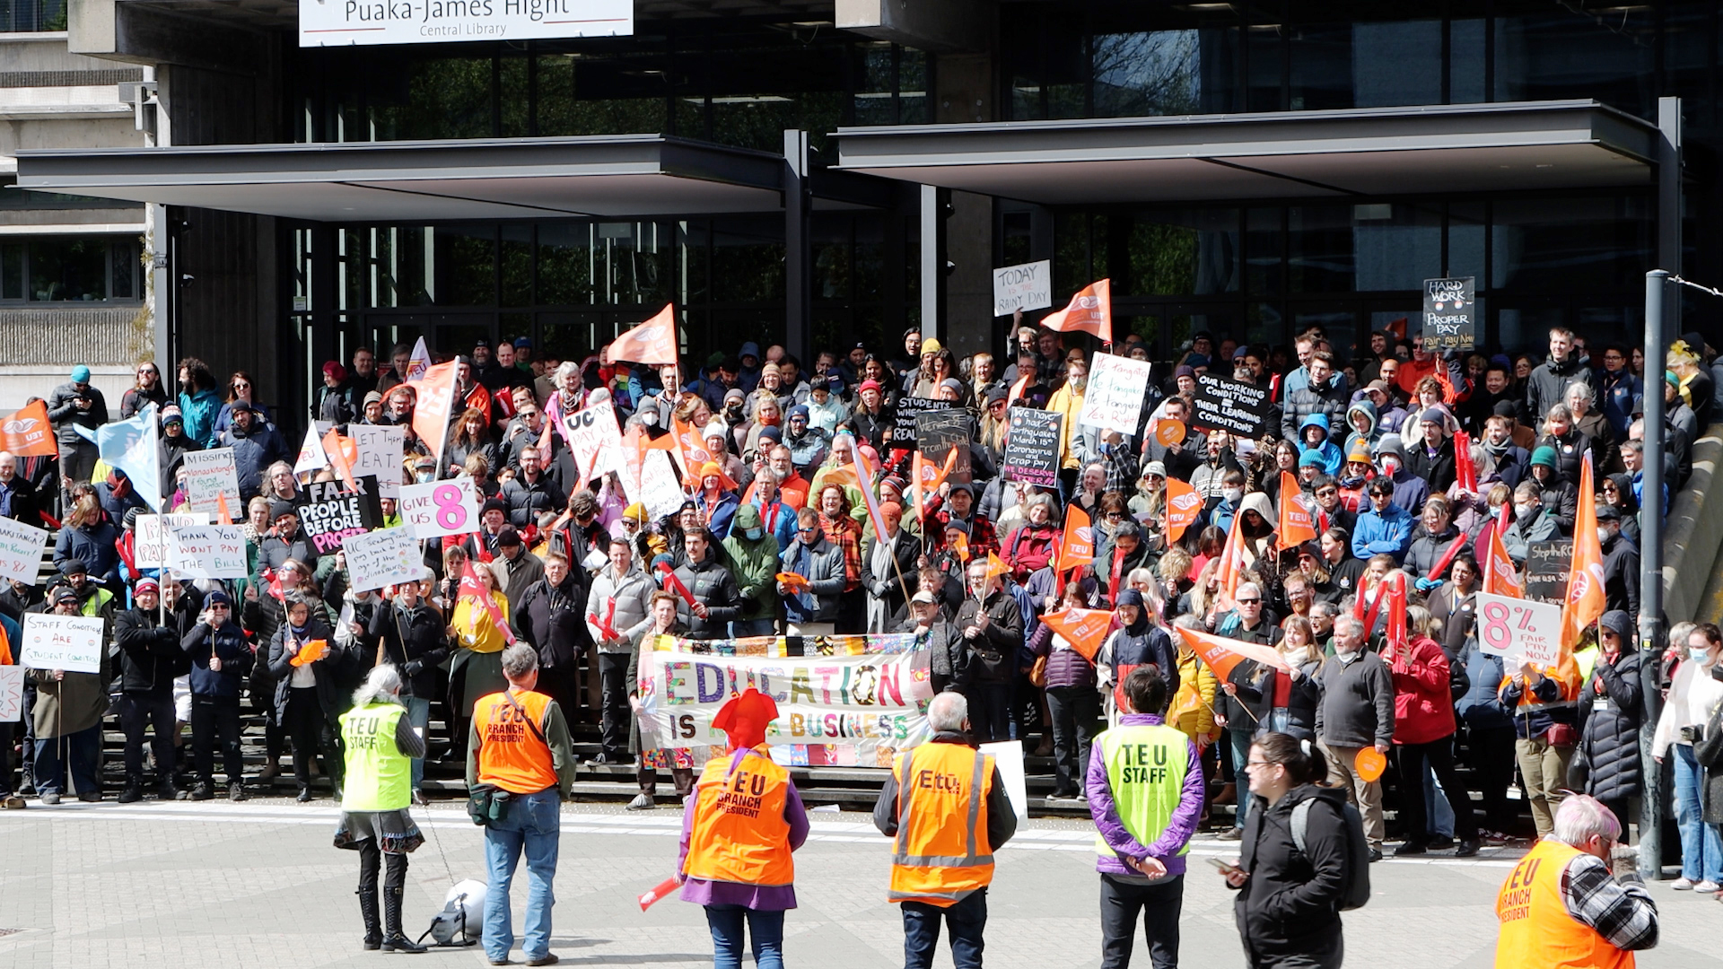
[[[520,850],[527,853],[527,916],[520,950],[527,959],[550,952],[550,910],[557,903],[557,847],[562,833],[562,797],[557,788],[508,798],[508,817],[484,829],[484,862],[491,869],[484,890],[484,955],[507,959],[515,945],[508,885],[515,878]]]

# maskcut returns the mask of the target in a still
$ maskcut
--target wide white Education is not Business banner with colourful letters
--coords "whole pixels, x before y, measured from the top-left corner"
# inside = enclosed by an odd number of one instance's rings
[[[889,767],[896,750],[932,736],[925,650],[786,657],[691,653],[677,645],[660,636],[641,650],[643,750],[724,747],[712,719],[750,686],[777,703],[765,735],[770,745],[846,745],[856,748],[858,764]]]

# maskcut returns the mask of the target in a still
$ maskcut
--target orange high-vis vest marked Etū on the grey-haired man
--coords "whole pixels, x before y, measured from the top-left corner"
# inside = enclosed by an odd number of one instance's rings
[[[941,909],[992,881],[987,795],[992,757],[960,743],[903,752],[898,778],[898,841],[891,852],[891,902]]]

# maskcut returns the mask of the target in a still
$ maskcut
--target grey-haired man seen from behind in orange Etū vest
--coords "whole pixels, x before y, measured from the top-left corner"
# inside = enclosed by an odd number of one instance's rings
[[[980,969],[992,852],[1017,833],[1017,810],[970,740],[961,693],[934,697],[927,726],[934,738],[898,755],[874,802],[874,826],[896,840],[887,898],[903,905],[905,969],[934,964],[941,917],[956,969]]]

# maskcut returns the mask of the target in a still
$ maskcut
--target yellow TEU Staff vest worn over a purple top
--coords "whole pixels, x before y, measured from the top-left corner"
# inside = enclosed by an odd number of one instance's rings
[[[1094,738],[1106,760],[1106,783],[1113,807],[1125,831],[1139,845],[1153,845],[1166,831],[1184,798],[1185,771],[1191,767],[1191,738],[1165,724],[1118,726]],[[1094,836],[1101,857],[1118,857],[1106,838]],[[1179,853],[1189,853],[1185,841]]]

